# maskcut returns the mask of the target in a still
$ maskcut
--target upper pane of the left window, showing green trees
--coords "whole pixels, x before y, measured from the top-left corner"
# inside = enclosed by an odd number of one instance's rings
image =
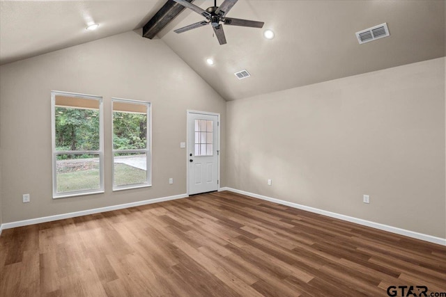
[[[57,98],[56,96],[56,104]],[[71,98],[73,105],[78,98]],[[98,100],[82,99],[96,102]],[[99,110],[55,106],[56,151],[99,150]]]

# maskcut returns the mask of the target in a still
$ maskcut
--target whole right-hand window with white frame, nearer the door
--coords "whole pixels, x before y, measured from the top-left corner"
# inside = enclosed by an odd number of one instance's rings
[[[151,186],[150,103],[113,99],[113,189]]]

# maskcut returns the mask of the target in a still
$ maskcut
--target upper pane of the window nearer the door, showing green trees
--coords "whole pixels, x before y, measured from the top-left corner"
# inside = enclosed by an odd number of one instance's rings
[[[145,149],[147,147],[147,113],[114,111],[113,132],[114,150]]]

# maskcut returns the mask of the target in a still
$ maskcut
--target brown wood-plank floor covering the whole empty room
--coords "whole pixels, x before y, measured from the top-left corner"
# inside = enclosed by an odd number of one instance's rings
[[[446,292],[444,246],[231,192],[3,230],[0,268],[0,296]]]

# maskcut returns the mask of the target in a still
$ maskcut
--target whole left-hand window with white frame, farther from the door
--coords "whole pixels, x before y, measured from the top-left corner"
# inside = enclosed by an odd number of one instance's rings
[[[102,97],[51,93],[53,198],[104,192]]]

